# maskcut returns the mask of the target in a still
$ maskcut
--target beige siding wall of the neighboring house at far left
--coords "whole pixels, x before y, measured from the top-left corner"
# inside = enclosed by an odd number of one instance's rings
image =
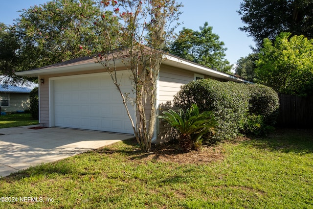
[[[29,93],[8,93],[9,106],[1,107],[1,112],[16,112],[29,109]]]

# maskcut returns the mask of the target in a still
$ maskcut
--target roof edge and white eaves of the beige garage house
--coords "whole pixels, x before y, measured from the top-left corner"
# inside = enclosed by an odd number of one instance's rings
[[[119,54],[120,55],[120,54]],[[126,58],[125,53],[122,54],[123,58]],[[103,66],[97,63],[96,59],[97,55],[91,55],[86,57],[79,57],[76,59],[68,60],[62,63],[56,63],[53,65],[45,66],[42,68],[37,68],[28,71],[16,72],[16,75],[21,76],[30,76],[37,77],[39,75],[45,74],[54,74],[54,73],[64,73],[64,72],[78,72],[83,70],[100,70],[103,69]],[[212,76],[215,78],[220,78],[224,80],[234,81],[234,82],[244,82],[244,83],[252,83],[242,78],[235,77],[233,75],[213,70],[206,66],[202,66],[200,64],[185,60],[180,58],[179,56],[164,53],[163,54],[163,64],[174,66],[184,70],[190,70],[195,73],[204,74],[208,76]],[[110,62],[109,62],[110,64]],[[115,60],[116,67],[125,67],[124,63],[121,60]]]

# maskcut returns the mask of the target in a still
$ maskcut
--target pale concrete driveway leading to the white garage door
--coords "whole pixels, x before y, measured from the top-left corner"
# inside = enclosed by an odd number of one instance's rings
[[[23,126],[0,129],[0,177],[133,138],[128,134]]]

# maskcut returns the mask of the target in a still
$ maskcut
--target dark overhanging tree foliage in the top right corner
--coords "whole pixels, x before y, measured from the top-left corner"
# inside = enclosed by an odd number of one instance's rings
[[[263,39],[274,40],[280,32],[313,38],[312,0],[243,0],[237,12],[246,23],[239,29],[248,32],[259,47]]]

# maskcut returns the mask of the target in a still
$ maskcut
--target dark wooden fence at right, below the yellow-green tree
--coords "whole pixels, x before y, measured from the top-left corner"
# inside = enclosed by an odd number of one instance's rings
[[[278,127],[313,129],[313,96],[279,94]]]

